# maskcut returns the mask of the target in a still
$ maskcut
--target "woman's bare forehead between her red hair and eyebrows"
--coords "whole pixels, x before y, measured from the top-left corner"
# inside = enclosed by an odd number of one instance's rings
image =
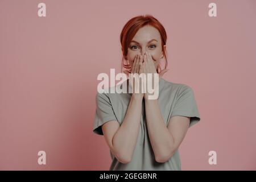
[[[140,43],[147,43],[151,39],[156,39],[158,42],[161,41],[161,36],[159,31],[152,26],[144,26],[142,28],[139,28],[139,30],[136,32],[132,40],[135,40]]]

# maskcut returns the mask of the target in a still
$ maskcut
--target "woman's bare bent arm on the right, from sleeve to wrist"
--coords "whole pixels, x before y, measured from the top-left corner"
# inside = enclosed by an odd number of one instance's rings
[[[145,110],[147,130],[155,160],[159,163],[167,162],[187,133],[189,117],[172,117],[167,127],[163,121],[158,100],[145,100]]]

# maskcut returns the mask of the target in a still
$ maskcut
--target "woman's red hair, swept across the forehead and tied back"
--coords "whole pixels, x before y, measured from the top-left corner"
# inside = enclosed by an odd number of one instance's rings
[[[125,26],[123,27],[123,30],[121,32],[121,35],[120,35],[122,53],[123,53],[121,72],[123,72],[123,68],[126,68],[127,71],[129,73],[131,73],[131,66],[130,66],[130,64],[127,63],[127,59],[125,59],[125,57],[127,56],[127,53],[128,53],[128,47],[129,47],[129,44],[130,44],[131,40],[133,39],[134,35],[139,30],[139,28],[142,28],[146,25],[155,27],[160,33],[161,40],[162,40],[163,55],[164,55],[164,59],[166,61],[164,68],[167,68],[167,65],[168,65],[167,55],[166,55],[166,51],[164,49],[164,45],[166,45],[166,40],[167,40],[166,30],[164,29],[163,25],[152,15],[139,15],[139,16],[135,16],[134,18],[131,18],[125,24]],[[125,64],[125,60],[126,60],[126,64]],[[157,73],[159,73],[159,69],[160,69],[160,71],[162,70],[158,66],[158,68],[156,70]]]

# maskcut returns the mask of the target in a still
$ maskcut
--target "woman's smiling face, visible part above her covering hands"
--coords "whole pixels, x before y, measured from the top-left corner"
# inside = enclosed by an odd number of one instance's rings
[[[164,49],[165,48],[166,45],[164,45]],[[155,67],[157,68],[160,63],[160,59],[163,58],[162,40],[159,31],[152,26],[144,26],[134,35],[127,52],[129,64],[132,66],[135,56],[139,53],[144,55],[146,51],[152,56]]]

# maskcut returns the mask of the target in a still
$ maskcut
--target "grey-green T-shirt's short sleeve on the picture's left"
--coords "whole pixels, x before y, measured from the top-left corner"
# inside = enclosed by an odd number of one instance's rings
[[[96,94],[96,113],[94,117],[94,126],[93,132],[98,135],[103,135],[101,126],[108,122],[116,120],[112,104],[110,102],[109,96],[107,93],[98,93]]]

